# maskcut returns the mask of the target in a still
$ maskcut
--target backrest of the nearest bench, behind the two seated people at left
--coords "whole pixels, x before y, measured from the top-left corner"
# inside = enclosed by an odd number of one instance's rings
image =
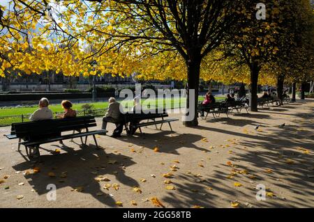
[[[15,134],[18,138],[49,138],[60,135],[61,132],[83,128],[88,129],[89,127],[96,127],[94,116],[39,120],[14,124]]]

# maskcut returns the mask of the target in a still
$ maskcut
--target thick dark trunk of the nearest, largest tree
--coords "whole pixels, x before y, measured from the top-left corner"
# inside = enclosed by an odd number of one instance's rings
[[[190,110],[186,113],[186,120],[184,125],[186,127],[195,127],[198,125],[197,117],[197,103],[198,103],[198,87],[200,85],[200,63],[201,59],[187,62],[188,68],[188,97],[186,98],[186,109]],[[194,93],[193,93],[194,90]],[[190,95],[194,97],[190,98]],[[190,101],[190,99],[194,101]],[[194,111],[194,113],[193,113]]]

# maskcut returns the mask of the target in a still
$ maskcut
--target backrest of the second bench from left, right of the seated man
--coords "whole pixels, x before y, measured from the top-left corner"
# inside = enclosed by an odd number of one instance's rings
[[[151,109],[151,110],[142,110],[141,113],[128,112],[124,114],[125,122],[130,122],[132,120],[150,120],[154,118],[164,118],[167,117],[168,113],[166,110],[159,111],[158,109]]]

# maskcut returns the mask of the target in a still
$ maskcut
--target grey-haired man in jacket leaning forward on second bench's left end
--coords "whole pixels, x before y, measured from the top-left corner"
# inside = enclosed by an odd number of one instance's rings
[[[120,111],[121,109],[121,111]],[[121,128],[123,129],[123,124],[121,127],[121,122],[123,122],[123,115],[122,115],[122,106],[119,102],[116,101],[114,97],[110,97],[109,99],[109,106],[107,109],[107,113],[103,117],[103,127],[102,129],[107,128],[107,122],[115,123],[116,129],[114,129],[114,134],[112,134],[113,137],[119,137],[121,136]],[[121,132],[120,132],[121,131]],[[102,135],[105,135],[103,133]]]

